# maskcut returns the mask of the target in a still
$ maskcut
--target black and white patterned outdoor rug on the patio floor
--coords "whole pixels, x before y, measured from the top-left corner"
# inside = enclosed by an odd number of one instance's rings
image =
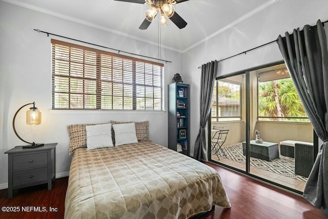
[[[227,158],[236,161],[238,163],[245,164],[246,158],[242,154],[242,144],[236,144],[231,146],[223,146],[222,150],[227,155]],[[213,153],[213,156],[216,156]],[[218,153],[219,157],[225,157],[222,151]],[[275,158],[272,161],[264,161],[258,158],[251,157],[251,166],[257,167],[263,170],[267,170],[273,173],[284,175],[290,178],[295,178],[296,180],[306,182],[307,177],[296,175],[295,174],[295,158],[283,156],[279,151],[279,158]]]

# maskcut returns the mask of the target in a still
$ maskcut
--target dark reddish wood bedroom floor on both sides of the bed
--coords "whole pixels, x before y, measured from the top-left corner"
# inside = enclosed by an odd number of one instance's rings
[[[328,218],[322,209],[317,209],[303,200],[302,197],[281,191],[251,178],[206,163],[215,168],[227,190],[232,207],[223,209],[215,207],[201,218]],[[63,218],[64,201],[68,177],[58,178],[53,183],[53,189],[47,190],[47,185],[18,189],[14,198],[8,200],[8,190],[0,190],[0,206],[20,207],[19,212],[3,212],[0,218]],[[22,212],[22,207],[45,207],[48,212]],[[50,212],[49,208],[57,208]],[[30,209],[32,210],[32,209]],[[36,209],[37,210],[37,209]]]

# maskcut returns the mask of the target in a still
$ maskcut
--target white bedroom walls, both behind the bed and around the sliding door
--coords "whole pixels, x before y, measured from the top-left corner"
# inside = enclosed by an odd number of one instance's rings
[[[315,25],[317,19],[326,21],[327,8],[326,0],[280,0],[182,55],[166,49],[161,50],[162,59],[173,61],[172,64],[165,65],[165,89],[172,82],[173,74],[177,72],[181,73],[184,83],[191,85],[192,154],[199,129],[200,69],[198,66],[273,41],[285,31],[291,32],[294,28],[302,28],[305,24]],[[69,171],[71,157],[67,153],[69,139],[66,126],[68,124],[101,123],[110,120],[149,120],[151,139],[155,143],[167,146],[167,113],[58,113],[49,110],[51,108],[51,37],[37,33],[33,29],[132,53],[158,56],[156,46],[0,1],[0,188],[8,182],[8,157],[4,152],[16,145],[24,144],[18,140],[12,130],[13,115],[20,106],[29,102],[35,101],[37,107],[42,110],[43,123],[35,127],[27,126],[24,122],[25,110],[23,110],[16,119],[17,132],[28,141],[58,142],[57,175],[65,175]],[[195,31],[201,30],[195,29]],[[59,37],[54,38],[66,41]],[[277,45],[272,44],[220,62],[218,75],[281,59]]]

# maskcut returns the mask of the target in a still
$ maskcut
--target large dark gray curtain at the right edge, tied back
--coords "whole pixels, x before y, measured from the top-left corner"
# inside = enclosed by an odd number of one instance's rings
[[[328,51],[323,25],[305,25],[278,37],[278,46],[306,113],[323,141],[306,182],[303,197],[317,208],[328,208]],[[301,133],[300,133],[301,134]]]

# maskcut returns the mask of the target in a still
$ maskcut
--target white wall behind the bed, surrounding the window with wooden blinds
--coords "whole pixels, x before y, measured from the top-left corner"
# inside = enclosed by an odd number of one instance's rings
[[[15,127],[18,134],[26,141],[58,143],[56,147],[57,176],[64,176],[69,171],[71,156],[68,155],[69,138],[66,129],[69,124],[104,123],[111,120],[149,120],[151,140],[167,146],[168,115],[166,112],[58,112],[49,110],[51,108],[50,39],[52,36],[47,37],[46,34],[37,33],[33,29],[158,57],[156,46],[0,1],[0,189],[6,187],[8,182],[8,156],[4,152],[16,145],[25,144],[15,136],[11,125],[12,118],[19,107],[33,101],[42,111],[42,124],[35,127],[26,125],[25,112],[28,110],[26,107],[17,115]],[[53,38],[68,41],[60,37]],[[69,42],[76,44],[74,41]],[[165,64],[166,93],[167,85],[172,82],[173,75],[181,72],[182,55],[166,49],[161,49],[161,51],[161,59],[173,62]],[[167,98],[167,95],[165,96]]]

